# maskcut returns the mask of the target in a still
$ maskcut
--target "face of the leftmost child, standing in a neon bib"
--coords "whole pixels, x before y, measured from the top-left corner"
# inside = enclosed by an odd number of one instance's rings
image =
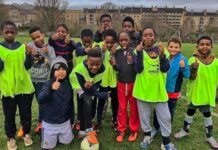
[[[2,31],[2,36],[4,40],[8,43],[13,43],[17,35],[17,31],[14,26],[6,25]]]

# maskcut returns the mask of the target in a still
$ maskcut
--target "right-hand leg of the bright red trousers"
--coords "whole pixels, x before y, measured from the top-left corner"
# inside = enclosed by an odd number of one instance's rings
[[[138,107],[137,107],[137,101],[132,96],[132,90],[133,90],[134,84],[129,84],[129,104],[130,104],[130,117],[129,117],[129,128],[132,132],[138,132],[140,121],[139,121],[139,113],[138,113]],[[119,105],[120,107],[120,105]]]

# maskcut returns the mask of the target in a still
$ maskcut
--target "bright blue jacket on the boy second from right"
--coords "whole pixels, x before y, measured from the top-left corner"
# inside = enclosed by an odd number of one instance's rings
[[[185,68],[181,68],[179,62],[181,59],[185,61]],[[168,93],[177,93],[181,91],[184,78],[189,78],[190,70],[188,60],[181,53],[177,54],[170,60],[170,69],[167,72],[166,89]]]

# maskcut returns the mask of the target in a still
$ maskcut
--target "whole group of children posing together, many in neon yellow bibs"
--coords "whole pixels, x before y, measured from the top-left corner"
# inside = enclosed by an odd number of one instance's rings
[[[180,52],[178,38],[170,39],[166,49],[157,42],[154,28],[145,27],[141,36],[135,32],[131,17],[123,20],[122,29],[117,35],[112,29],[111,16],[103,14],[95,35],[90,29],[81,31],[81,42],[71,40],[67,26],[59,24],[48,43],[43,31],[34,27],[29,30],[32,42],[21,44],[15,41],[15,24],[2,23],[0,91],[9,150],[17,149],[17,106],[22,126],[19,136],[26,146],[33,143],[29,133],[34,94],[39,105],[35,132],[41,133],[43,149],[53,149],[57,142],[71,143],[72,128],[78,129],[78,137],[86,137],[90,144],[98,143],[96,131],[99,133],[103,127],[110,97],[111,126],[117,132],[117,142],[123,142],[128,124],[128,141],[137,139],[141,126],[144,132],[141,148],[148,148],[160,130],[161,149],[176,150],[170,141],[171,124],[183,78],[188,79],[186,93],[190,103],[183,129],[175,138],[188,135],[193,116],[199,109],[204,115],[206,140],[212,148],[218,148],[212,135],[211,117],[218,85],[218,60],[211,51],[211,38],[200,37],[197,50],[187,60]],[[77,98],[76,123],[74,94]],[[93,124],[96,111],[97,123]]]

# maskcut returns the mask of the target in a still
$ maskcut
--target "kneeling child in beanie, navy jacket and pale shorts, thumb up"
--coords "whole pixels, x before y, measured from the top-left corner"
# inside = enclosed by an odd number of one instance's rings
[[[69,80],[67,62],[58,56],[51,64],[51,79],[39,93],[38,101],[43,105],[42,141],[43,149],[53,149],[57,141],[70,144],[73,140],[71,115],[73,111],[73,91]]]

